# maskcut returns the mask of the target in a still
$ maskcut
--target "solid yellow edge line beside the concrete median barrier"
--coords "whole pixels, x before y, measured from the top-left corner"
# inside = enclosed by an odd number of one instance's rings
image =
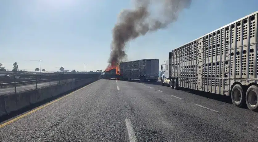
[[[99,80],[98,80],[98,81],[99,81]],[[81,90],[81,89],[84,89],[85,87],[87,87],[87,86],[89,86],[89,85],[92,85],[93,83],[96,83],[96,82],[97,82],[97,81],[92,82],[91,84],[88,84],[88,85],[86,85],[86,86],[84,86],[84,87],[82,87],[82,88],[80,88],[80,89],[78,89],[78,90],[75,90],[75,91],[73,91],[73,92],[71,92],[71,93],[69,93],[69,94],[67,94],[67,95],[65,95],[65,96],[63,96],[63,97],[60,97],[60,98],[56,99],[55,101],[51,101],[51,102],[49,102],[49,103],[47,103],[47,104],[45,104],[45,105],[43,105],[43,106],[41,106],[41,107],[38,107],[38,108],[36,108],[36,109],[33,109],[32,111],[29,111],[29,112],[27,112],[27,113],[25,113],[25,114],[23,114],[23,115],[21,115],[21,116],[18,116],[18,117],[14,118],[14,119],[12,119],[12,120],[10,120],[10,121],[7,121],[6,123],[1,124],[1,125],[0,125],[0,128],[6,126],[6,125],[8,125],[8,124],[11,124],[11,123],[13,123],[14,121],[17,121],[17,120],[19,120],[19,119],[21,119],[21,118],[23,118],[23,117],[25,117],[25,116],[27,116],[27,115],[30,115],[31,113],[36,112],[36,111],[38,111],[39,109],[42,109],[42,108],[44,108],[44,107],[46,107],[46,106],[48,106],[48,105],[51,105],[51,104],[53,104],[54,102],[59,101],[59,100],[65,98],[65,97],[67,97],[67,96],[69,96],[69,95],[71,95],[71,94],[73,94],[73,93],[76,93],[77,91],[79,91],[79,90]]]

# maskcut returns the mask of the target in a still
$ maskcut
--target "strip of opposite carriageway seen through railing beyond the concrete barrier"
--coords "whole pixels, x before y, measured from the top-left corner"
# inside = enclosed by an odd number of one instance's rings
[[[72,81],[72,79],[69,79],[68,81]],[[51,81],[51,85],[56,85],[59,84],[59,81]],[[47,87],[49,86],[49,82],[42,82],[42,83],[37,83],[37,88],[42,88],[42,87]],[[31,90],[35,89],[36,84],[29,84],[29,85],[22,85],[22,86],[17,86],[16,87],[16,92],[21,92],[21,91],[26,91],[26,90]],[[5,94],[11,94],[14,93],[14,87],[11,88],[0,88],[0,96],[5,95]]]

